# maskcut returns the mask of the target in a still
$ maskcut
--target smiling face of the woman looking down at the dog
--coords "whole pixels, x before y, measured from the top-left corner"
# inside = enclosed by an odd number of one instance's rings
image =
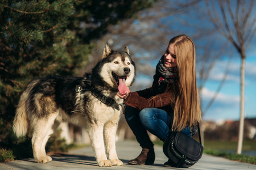
[[[164,53],[164,66],[168,68],[177,66],[175,48],[172,44],[168,45]]]

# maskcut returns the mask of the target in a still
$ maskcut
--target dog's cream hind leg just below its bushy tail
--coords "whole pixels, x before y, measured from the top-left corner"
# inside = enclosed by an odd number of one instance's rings
[[[48,163],[52,158],[46,155],[45,145],[52,132],[55,116],[39,119],[33,126],[32,148],[35,161],[38,163]]]

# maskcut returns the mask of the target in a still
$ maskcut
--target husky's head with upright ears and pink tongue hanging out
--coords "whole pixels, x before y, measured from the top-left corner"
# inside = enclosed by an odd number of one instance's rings
[[[98,64],[98,72],[102,85],[125,94],[135,77],[135,65],[130,58],[128,47],[125,46],[122,52],[117,52],[106,44],[102,60]]]

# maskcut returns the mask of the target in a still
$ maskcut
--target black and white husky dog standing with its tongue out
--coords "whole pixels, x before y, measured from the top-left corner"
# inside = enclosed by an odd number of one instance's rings
[[[32,80],[20,96],[14,133],[21,137],[31,130],[35,161],[48,163],[52,160],[45,150],[48,138],[60,122],[68,121],[88,129],[100,167],[123,165],[115,151],[115,134],[123,103],[117,94],[127,92],[134,76],[135,65],[128,47],[116,52],[106,44],[92,74],[66,78],[49,75]]]

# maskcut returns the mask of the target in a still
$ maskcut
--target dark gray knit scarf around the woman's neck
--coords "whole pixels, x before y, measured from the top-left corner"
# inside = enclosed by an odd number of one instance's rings
[[[177,67],[168,68],[168,67],[164,66],[164,56],[162,56],[158,62],[158,65],[156,66],[156,74],[160,75],[158,84],[174,83],[174,80],[179,75],[179,71],[178,71]]]

